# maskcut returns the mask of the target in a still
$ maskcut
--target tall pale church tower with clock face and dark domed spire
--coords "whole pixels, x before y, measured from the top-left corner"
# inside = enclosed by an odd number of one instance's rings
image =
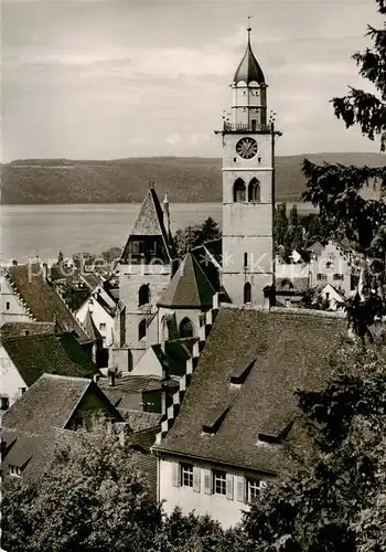
[[[274,285],[275,130],[250,46],[235,73],[223,135],[223,286],[235,305],[264,304]]]

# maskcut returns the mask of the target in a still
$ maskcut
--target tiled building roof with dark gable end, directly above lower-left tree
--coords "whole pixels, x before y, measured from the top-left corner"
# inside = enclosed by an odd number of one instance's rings
[[[122,422],[93,380],[43,374],[2,416],[2,476],[44,477],[56,447],[90,428],[94,415]]]

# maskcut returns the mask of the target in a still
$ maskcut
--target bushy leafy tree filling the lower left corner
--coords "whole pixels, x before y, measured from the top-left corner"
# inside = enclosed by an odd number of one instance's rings
[[[39,482],[4,485],[2,544],[12,552],[148,552],[160,527],[138,454],[103,422],[73,434]]]

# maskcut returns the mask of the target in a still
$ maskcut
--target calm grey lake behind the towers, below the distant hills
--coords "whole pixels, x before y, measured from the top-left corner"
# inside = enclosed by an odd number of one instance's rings
[[[312,206],[298,205],[299,212]],[[1,257],[24,263],[39,257],[56,261],[73,253],[100,253],[124,247],[140,204],[1,205]],[[212,216],[221,225],[221,203],[171,203],[172,232]]]

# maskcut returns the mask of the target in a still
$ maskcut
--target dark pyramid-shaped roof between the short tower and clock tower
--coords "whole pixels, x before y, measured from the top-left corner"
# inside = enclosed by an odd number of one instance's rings
[[[187,253],[157,305],[169,308],[211,307],[214,295],[215,290],[199,262]]]

